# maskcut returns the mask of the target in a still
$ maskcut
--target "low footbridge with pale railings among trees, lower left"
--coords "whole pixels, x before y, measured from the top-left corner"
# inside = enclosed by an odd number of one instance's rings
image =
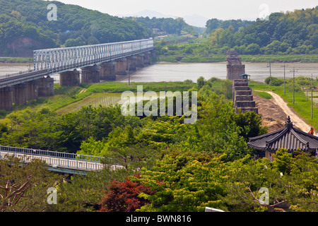
[[[113,170],[122,168],[121,165],[115,164],[111,158],[0,145],[0,160],[6,160],[9,156],[18,157],[23,163],[39,159],[47,163],[49,170],[69,174],[96,171],[103,169],[105,165]]]

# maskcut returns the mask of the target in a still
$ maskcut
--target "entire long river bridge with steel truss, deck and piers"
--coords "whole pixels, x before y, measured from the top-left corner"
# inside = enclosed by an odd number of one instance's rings
[[[153,40],[146,39],[35,50],[33,70],[0,76],[0,109],[54,95],[50,76],[57,73],[61,86],[115,81],[117,75],[151,64],[153,49]]]

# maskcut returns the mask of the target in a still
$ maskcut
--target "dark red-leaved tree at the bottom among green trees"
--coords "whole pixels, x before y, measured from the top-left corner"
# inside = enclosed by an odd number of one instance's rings
[[[144,198],[138,197],[141,193],[151,195],[155,192],[151,191],[150,187],[127,178],[124,182],[115,180],[107,187],[105,196],[102,197],[100,212],[134,212],[149,203]]]

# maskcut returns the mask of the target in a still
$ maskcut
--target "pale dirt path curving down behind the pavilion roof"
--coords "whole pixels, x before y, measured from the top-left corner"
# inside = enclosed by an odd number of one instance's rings
[[[310,131],[311,126],[306,124],[305,121],[300,119],[295,112],[288,107],[287,103],[281,98],[279,95],[273,92],[266,91],[266,93],[269,93],[273,97],[273,102],[281,107],[283,109],[283,112],[286,115],[290,116],[291,121],[295,124],[296,127],[298,127],[301,131],[308,132]]]

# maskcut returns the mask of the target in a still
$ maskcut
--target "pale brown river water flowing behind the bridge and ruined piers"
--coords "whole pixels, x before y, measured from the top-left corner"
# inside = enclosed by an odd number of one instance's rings
[[[266,63],[243,63],[245,72],[251,76],[254,81],[264,82],[269,76],[269,67]],[[271,65],[271,75],[277,78],[284,76],[284,64],[274,63]],[[0,76],[8,73],[17,73],[28,71],[32,64],[0,64]],[[285,77],[292,78],[295,68],[295,76],[318,77],[317,63],[288,63],[285,68]],[[194,82],[203,76],[208,80],[216,77],[226,78],[226,62],[220,63],[157,63],[139,69],[130,76],[131,82],[160,82],[160,81],[184,81],[190,79]],[[56,82],[59,81],[59,75],[52,76]],[[129,76],[117,76],[118,81],[128,82]]]

